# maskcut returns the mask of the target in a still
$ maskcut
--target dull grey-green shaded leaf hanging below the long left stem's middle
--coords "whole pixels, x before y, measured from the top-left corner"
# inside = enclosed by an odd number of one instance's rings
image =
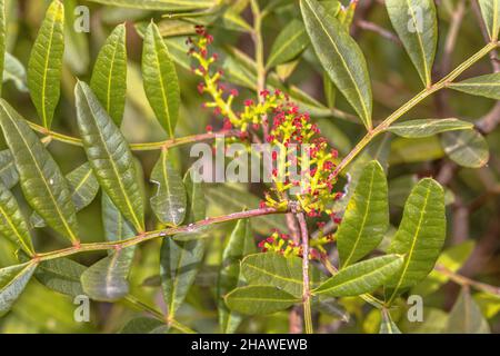
[[[116,301],[127,296],[131,251],[130,247],[116,250],[86,269],[80,278],[83,291],[100,301]]]

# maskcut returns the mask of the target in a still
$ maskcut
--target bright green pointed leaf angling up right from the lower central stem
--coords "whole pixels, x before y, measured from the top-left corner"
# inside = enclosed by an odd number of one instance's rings
[[[403,264],[403,256],[387,255],[370,258],[341,269],[313,290],[330,297],[359,296],[373,291],[393,277]]]

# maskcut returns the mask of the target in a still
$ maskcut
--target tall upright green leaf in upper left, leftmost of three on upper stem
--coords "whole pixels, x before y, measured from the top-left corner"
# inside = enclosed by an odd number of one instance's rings
[[[31,100],[46,128],[50,128],[59,102],[63,52],[64,6],[54,0],[47,10],[28,63]]]

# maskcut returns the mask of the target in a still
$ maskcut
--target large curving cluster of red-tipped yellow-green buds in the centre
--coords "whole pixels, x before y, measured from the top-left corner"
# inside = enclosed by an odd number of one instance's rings
[[[228,90],[220,82],[222,71],[213,68],[218,60],[217,53],[210,53],[209,49],[213,38],[203,27],[197,27],[197,39],[188,40],[189,55],[198,62],[193,72],[202,78],[198,90],[211,97],[204,107],[223,118],[223,129],[234,128],[242,135],[248,135],[250,128],[257,131],[269,123],[266,127],[270,127],[270,131],[264,138],[273,148],[279,148],[280,154],[272,151],[272,187],[262,205],[283,209],[291,208],[291,201],[293,209],[310,217],[328,214],[333,218],[331,206],[342,197],[342,192],[333,189],[337,151],[329,148],[318,126],[280,90],[262,90],[257,102],[247,99],[242,112],[236,112],[232,106],[238,91]],[[207,129],[211,131],[212,127]]]

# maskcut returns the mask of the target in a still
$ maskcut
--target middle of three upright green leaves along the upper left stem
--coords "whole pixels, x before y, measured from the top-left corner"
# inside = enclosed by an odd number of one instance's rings
[[[120,127],[127,95],[127,29],[119,24],[101,48],[90,87],[114,123]]]

